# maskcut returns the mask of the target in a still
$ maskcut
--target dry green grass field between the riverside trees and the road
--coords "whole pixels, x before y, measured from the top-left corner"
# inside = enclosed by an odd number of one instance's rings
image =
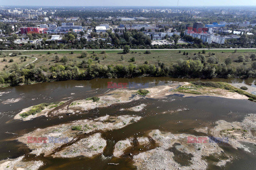
[[[188,60],[189,57],[193,57],[194,53],[201,52],[202,50],[191,50],[191,49],[181,49],[181,53],[179,50],[151,50],[151,54],[145,54],[146,50],[131,50],[129,54],[122,54],[122,50],[105,50],[106,54],[101,54],[101,50],[94,50],[97,57],[99,57],[100,64],[103,65],[129,65],[130,63],[133,64],[144,64],[146,61],[148,64],[157,64],[158,62],[164,63],[166,65],[170,65],[173,63],[177,63],[179,60]],[[250,56],[252,53],[256,53],[256,49],[237,49],[237,52],[234,53],[234,49],[211,49],[205,50],[206,53],[202,54],[207,58],[209,57],[208,53],[215,53],[215,57],[219,58],[219,63],[223,63],[226,58],[230,57],[233,63],[231,65],[238,66],[242,65],[243,63],[235,62],[239,55]],[[12,71],[13,64],[17,63],[20,67],[24,67],[25,65],[29,64],[30,62],[34,61],[35,58],[27,57],[26,62],[22,62],[21,56],[10,56],[9,54],[13,51],[3,51],[2,55],[0,55],[0,71]],[[81,53],[83,50],[49,50],[51,54],[47,54],[47,50],[29,50],[29,51],[22,51],[22,55],[34,56],[38,58],[38,60],[34,63],[36,67],[39,66],[46,66],[50,67],[55,64],[62,64],[62,63],[55,63],[55,56],[59,56],[61,59],[63,56],[67,56],[68,62],[67,64],[78,64],[82,61],[87,61],[89,59],[93,60],[93,63],[97,63],[93,56],[93,50],[86,50],[89,54],[86,58],[81,58]],[[18,53],[19,53],[18,52]],[[73,52],[74,54],[71,54]],[[188,55],[183,55],[183,52],[188,52]],[[123,56],[124,60],[121,60],[121,56]],[[135,57],[135,62],[130,62],[130,58]],[[7,60],[3,62],[4,58]],[[14,62],[10,63],[9,61],[13,59]],[[247,62],[247,64],[251,64],[251,62]],[[6,67],[7,65],[7,67]]]

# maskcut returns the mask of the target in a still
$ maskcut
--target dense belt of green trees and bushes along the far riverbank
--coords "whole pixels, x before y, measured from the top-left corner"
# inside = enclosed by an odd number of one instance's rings
[[[255,78],[256,77],[256,55],[239,55],[237,60],[231,60],[230,57],[216,57],[214,53],[202,54],[195,53],[193,56],[185,57],[186,60],[180,60],[175,63],[166,64],[158,60],[155,64],[136,64],[135,57],[132,57],[129,65],[121,65],[111,62],[111,65],[100,64],[106,60],[105,51],[101,52],[103,59],[99,60],[99,54],[92,53],[94,61],[89,58],[87,52],[82,52],[78,56],[78,62],[70,62],[71,59],[63,56],[55,56],[54,61],[49,66],[35,66],[29,64],[26,67],[20,67],[14,63],[10,72],[0,74],[0,84],[2,86],[10,84],[18,86],[20,84],[31,84],[35,82],[63,81],[63,80],[90,80],[94,78],[132,78],[132,77],[173,77],[173,78]],[[129,53],[129,50],[127,51]],[[149,51],[148,51],[149,53]],[[178,53],[179,54],[179,53]],[[74,55],[74,54],[73,54]],[[128,54],[127,54],[128,55]],[[138,54],[139,56],[142,54]],[[144,54],[146,56],[151,54]],[[180,54],[187,56],[187,53]],[[81,61],[82,59],[82,61]],[[101,58],[100,58],[101,59]],[[154,57],[153,57],[154,59]],[[159,58],[160,59],[160,58]],[[23,60],[23,58],[21,59]],[[48,60],[48,59],[47,59]],[[46,61],[47,61],[46,60]],[[114,59],[115,60],[115,59]],[[121,61],[122,56],[121,56]],[[234,63],[236,64],[234,64]],[[4,63],[4,62],[3,62]],[[22,63],[22,62],[21,62]],[[4,68],[9,69],[9,68]]]

